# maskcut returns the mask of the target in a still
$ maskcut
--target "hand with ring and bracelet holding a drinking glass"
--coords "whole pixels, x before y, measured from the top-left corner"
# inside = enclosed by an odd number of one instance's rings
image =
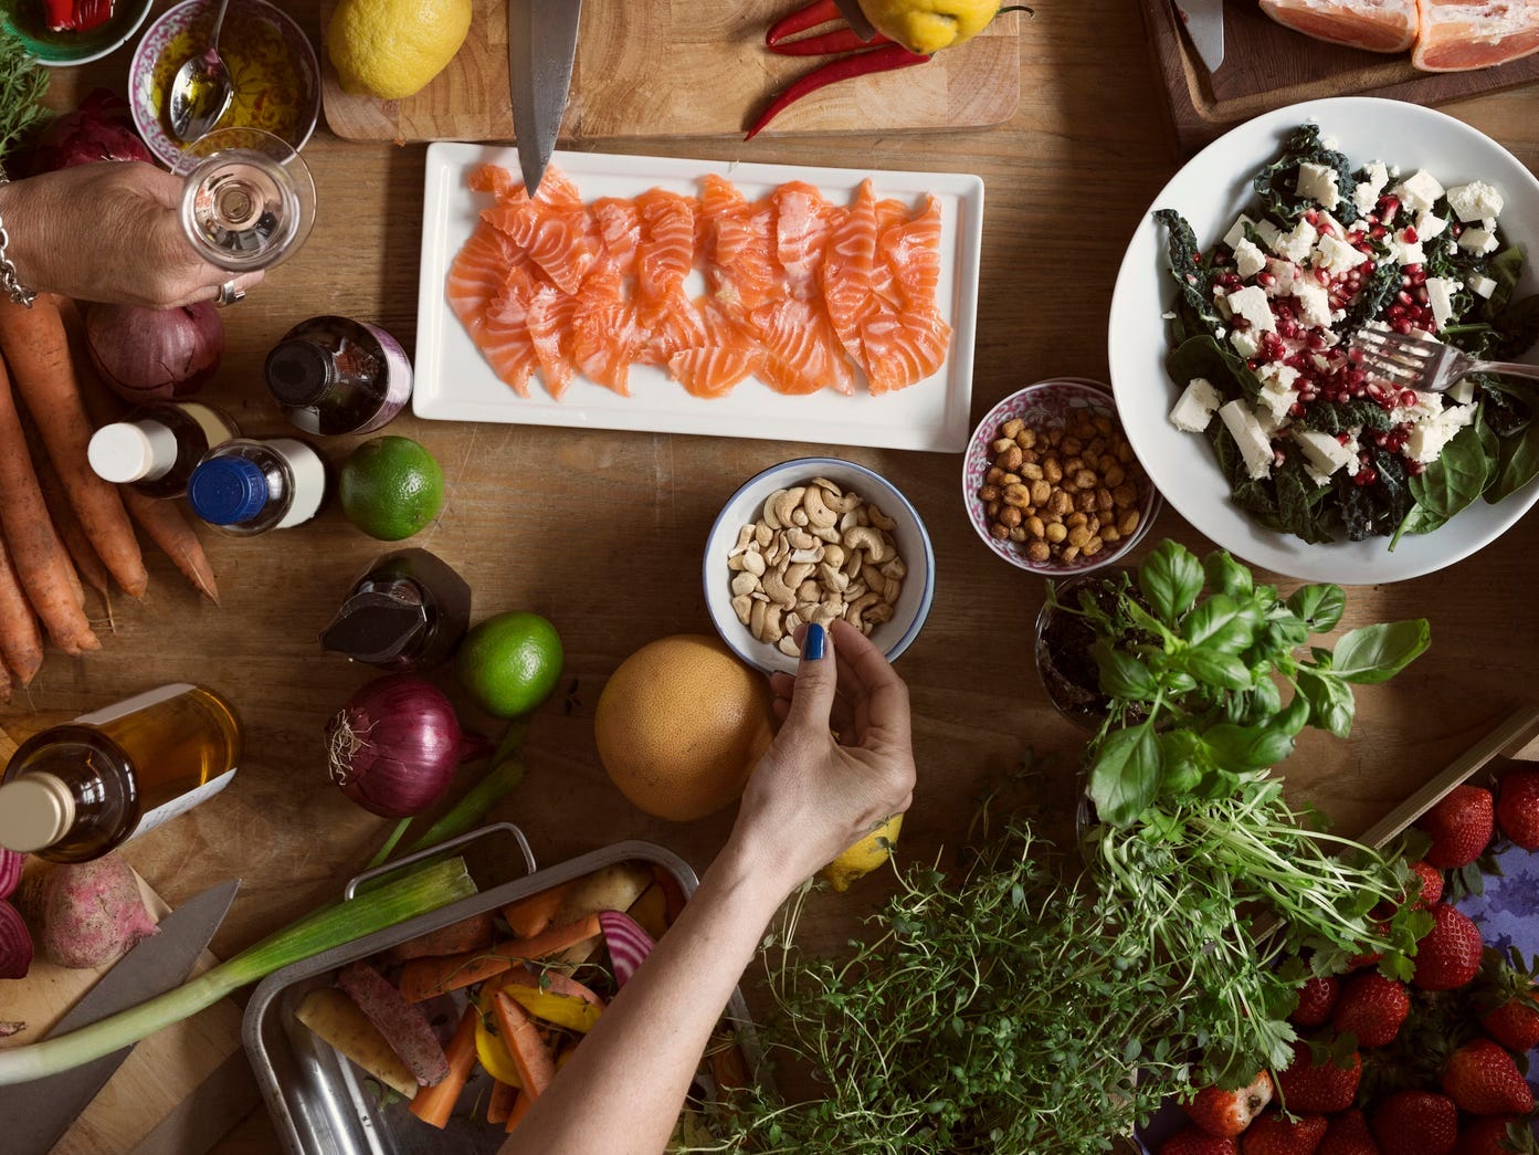
[[[180,177],[135,160],[42,172],[0,186],[6,256],[29,290],[145,308],[214,300],[225,282],[243,291],[262,280],[199,257],[180,203]]]

